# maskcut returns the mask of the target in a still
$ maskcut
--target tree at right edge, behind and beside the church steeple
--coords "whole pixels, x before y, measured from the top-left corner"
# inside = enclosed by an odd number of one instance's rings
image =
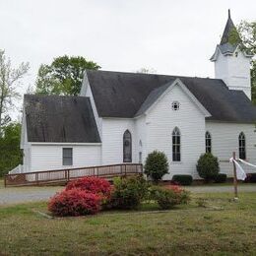
[[[237,26],[237,31],[233,30],[230,34],[230,43],[240,43],[241,50],[252,55],[256,55],[256,22],[241,21]],[[251,96],[252,102],[256,104],[256,60],[251,63]]]

